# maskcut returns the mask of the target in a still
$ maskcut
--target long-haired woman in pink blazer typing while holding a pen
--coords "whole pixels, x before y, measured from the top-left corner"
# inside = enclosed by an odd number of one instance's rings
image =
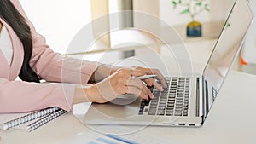
[[[0,113],[45,107],[70,111],[75,103],[103,103],[125,93],[154,97],[141,80],[131,76],[156,74],[166,87],[157,69],[106,66],[54,53],[27,20],[18,0],[0,1],[0,49]],[[22,81],[15,81],[18,76]],[[52,83],[40,84],[40,79]],[[144,82],[162,90],[153,78]]]

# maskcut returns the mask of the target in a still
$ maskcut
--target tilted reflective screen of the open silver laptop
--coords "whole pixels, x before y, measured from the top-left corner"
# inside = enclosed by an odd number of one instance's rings
[[[247,0],[236,0],[203,72],[204,78],[217,92],[241,48],[252,20],[253,14]]]

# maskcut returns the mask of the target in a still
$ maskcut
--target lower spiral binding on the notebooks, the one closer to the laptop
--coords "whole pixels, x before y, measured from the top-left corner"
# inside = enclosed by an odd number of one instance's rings
[[[28,130],[28,131],[36,130],[36,129],[38,129],[38,127],[48,123],[49,121],[51,121],[54,118],[61,116],[61,114],[65,113],[65,112],[67,112],[67,111],[62,110],[62,109],[57,110],[56,112],[53,112],[53,113],[45,116],[44,118],[40,118],[40,119],[38,119],[38,121],[27,125],[26,130]]]

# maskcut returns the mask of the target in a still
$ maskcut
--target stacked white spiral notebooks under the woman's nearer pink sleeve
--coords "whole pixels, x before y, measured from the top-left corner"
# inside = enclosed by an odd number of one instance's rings
[[[0,114],[0,129],[32,131],[65,113],[59,107],[49,107],[36,112]]]

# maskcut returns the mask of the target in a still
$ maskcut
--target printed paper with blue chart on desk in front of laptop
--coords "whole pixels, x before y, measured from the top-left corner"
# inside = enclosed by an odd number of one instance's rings
[[[130,131],[131,129],[126,126],[102,125],[90,131],[90,134],[84,131],[64,144],[175,144],[172,140],[162,141],[157,135],[128,133]]]

